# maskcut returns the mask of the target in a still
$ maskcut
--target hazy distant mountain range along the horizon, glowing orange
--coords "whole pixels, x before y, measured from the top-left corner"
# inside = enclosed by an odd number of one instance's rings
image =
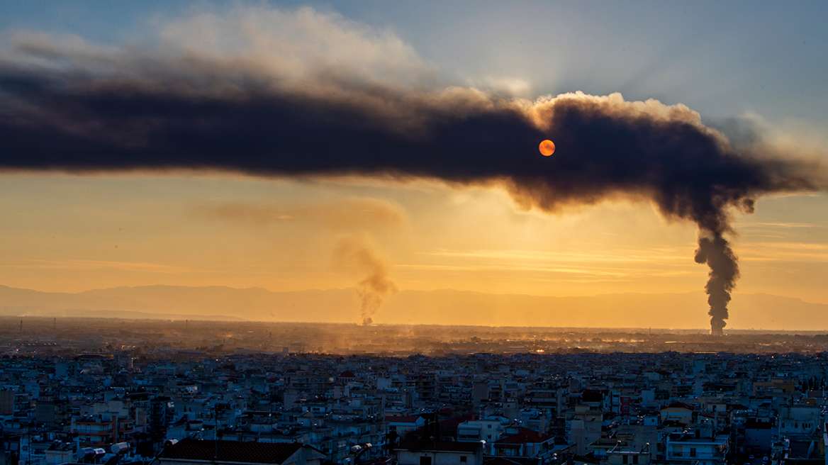
[[[78,294],[0,285],[0,314],[113,318],[245,319],[355,323],[353,289],[271,292],[262,288],[148,285]],[[378,324],[472,324],[580,328],[708,328],[706,295],[607,294],[588,297],[403,290],[374,315]],[[768,294],[736,294],[727,328],[826,330],[828,305]]]

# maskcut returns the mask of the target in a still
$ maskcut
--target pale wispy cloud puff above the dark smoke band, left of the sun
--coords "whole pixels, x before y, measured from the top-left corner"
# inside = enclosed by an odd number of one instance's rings
[[[164,22],[161,45],[190,60],[249,70],[268,86],[410,87],[435,70],[392,31],[310,7],[235,7]]]

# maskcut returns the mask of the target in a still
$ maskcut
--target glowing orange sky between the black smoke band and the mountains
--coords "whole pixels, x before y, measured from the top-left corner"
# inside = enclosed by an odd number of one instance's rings
[[[344,288],[357,276],[332,254],[355,235],[370,237],[401,289],[688,292],[707,275],[693,261],[695,225],[648,204],[547,215],[518,211],[498,189],[425,181],[0,177],[0,284],[12,287]],[[828,222],[816,221],[826,207],[824,194],[765,198],[735,216],[737,292],[828,304]]]

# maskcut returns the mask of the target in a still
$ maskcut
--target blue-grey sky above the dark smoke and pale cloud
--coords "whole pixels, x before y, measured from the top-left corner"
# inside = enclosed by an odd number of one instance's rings
[[[251,4],[247,2],[246,4]],[[258,4],[255,2],[253,4]],[[270,2],[387,28],[451,84],[522,79],[532,94],[621,92],[705,121],[755,113],[828,125],[826,2]],[[224,2],[3,2],[0,31],[153,40],[158,21]]]

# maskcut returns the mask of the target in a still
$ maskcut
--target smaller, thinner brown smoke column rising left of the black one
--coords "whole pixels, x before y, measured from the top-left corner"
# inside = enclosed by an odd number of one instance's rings
[[[373,242],[365,236],[340,239],[334,259],[337,264],[352,268],[359,276],[357,295],[362,324],[373,324],[373,315],[383,306],[385,297],[399,292],[397,285],[388,277],[387,263],[376,252]]]

